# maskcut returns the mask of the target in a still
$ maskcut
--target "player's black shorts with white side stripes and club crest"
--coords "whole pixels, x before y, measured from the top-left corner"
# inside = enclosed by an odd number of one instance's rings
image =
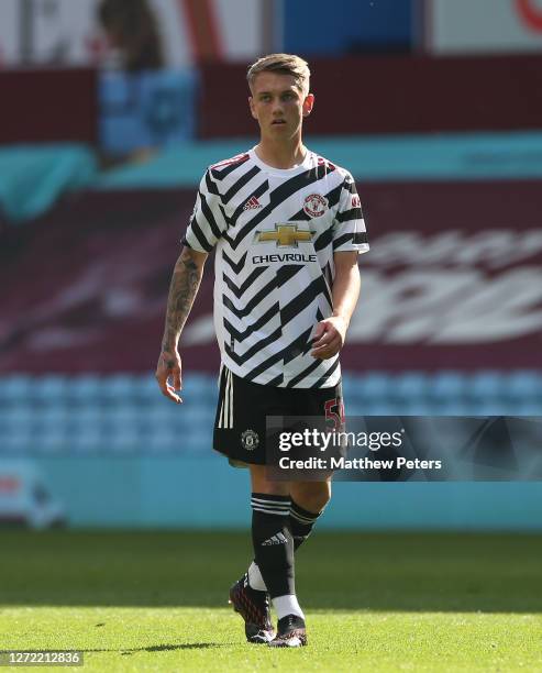
[[[311,417],[342,427],[342,384],[330,388],[277,388],[245,380],[225,366],[220,375],[213,449],[237,466],[266,465],[266,418]]]

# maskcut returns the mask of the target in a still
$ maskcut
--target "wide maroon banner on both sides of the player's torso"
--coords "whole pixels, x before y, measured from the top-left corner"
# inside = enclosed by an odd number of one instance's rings
[[[343,363],[540,368],[540,181],[361,186],[372,251]],[[150,372],[193,190],[89,194],[0,241],[1,372]],[[217,371],[212,264],[187,369]]]

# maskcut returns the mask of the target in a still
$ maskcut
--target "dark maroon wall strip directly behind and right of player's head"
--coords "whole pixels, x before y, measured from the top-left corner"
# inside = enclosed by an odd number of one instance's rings
[[[319,134],[542,128],[542,56],[314,59],[307,131]],[[200,136],[255,135],[246,68],[202,67]]]

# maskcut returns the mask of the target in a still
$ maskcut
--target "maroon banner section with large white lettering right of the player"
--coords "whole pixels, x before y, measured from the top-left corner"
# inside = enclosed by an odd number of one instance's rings
[[[343,363],[400,371],[540,366],[540,183],[374,185],[372,251]]]

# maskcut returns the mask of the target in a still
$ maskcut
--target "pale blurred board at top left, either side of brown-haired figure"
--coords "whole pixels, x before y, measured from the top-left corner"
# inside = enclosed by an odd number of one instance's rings
[[[166,65],[250,60],[273,31],[265,0],[148,0]],[[100,0],[1,0],[0,68],[20,65],[85,66],[108,60],[98,22]]]

